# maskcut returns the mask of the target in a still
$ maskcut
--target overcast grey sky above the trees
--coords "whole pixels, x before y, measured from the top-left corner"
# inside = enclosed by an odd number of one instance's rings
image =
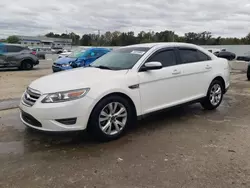
[[[211,31],[244,37],[250,0],[0,0],[0,36],[105,31]]]

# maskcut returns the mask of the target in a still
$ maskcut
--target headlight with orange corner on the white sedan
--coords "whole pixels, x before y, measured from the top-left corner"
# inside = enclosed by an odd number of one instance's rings
[[[88,91],[89,88],[50,93],[42,100],[42,103],[58,103],[76,100],[84,97]]]

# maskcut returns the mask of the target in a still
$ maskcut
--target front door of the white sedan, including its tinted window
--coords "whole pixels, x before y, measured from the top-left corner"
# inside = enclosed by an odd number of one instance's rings
[[[147,114],[175,106],[182,99],[181,73],[175,50],[154,53],[146,62],[158,61],[162,69],[138,72],[142,113]]]

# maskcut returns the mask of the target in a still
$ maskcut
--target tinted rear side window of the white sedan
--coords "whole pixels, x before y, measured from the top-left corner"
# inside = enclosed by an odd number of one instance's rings
[[[179,49],[179,53],[182,63],[207,61],[211,59],[203,52],[200,52],[199,50],[195,49]]]

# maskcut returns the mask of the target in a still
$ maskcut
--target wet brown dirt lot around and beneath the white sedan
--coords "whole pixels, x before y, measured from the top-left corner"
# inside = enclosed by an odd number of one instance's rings
[[[20,97],[51,72],[46,66],[29,76],[0,72],[2,99]],[[216,111],[196,104],[160,113],[109,143],[86,133],[30,132],[17,109],[0,111],[0,187],[250,187],[249,113],[250,82],[239,73]]]

